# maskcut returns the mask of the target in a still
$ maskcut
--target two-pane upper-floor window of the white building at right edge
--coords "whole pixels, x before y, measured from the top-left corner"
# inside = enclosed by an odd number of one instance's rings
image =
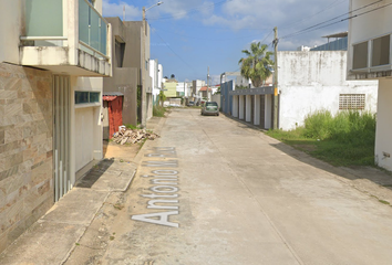
[[[392,70],[391,34],[373,38],[352,45],[353,72],[379,72]]]

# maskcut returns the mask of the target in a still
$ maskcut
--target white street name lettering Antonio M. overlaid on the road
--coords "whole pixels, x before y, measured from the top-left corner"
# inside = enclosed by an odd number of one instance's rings
[[[149,183],[154,184],[149,188],[152,193],[142,194],[142,197],[152,199],[147,202],[147,209],[175,211],[132,215],[132,220],[178,227],[178,223],[168,220],[171,215],[179,214],[178,205],[173,205],[178,204],[178,171],[173,169],[178,168],[178,160],[174,159],[177,158],[176,149],[174,147],[154,147],[151,151],[145,157],[167,160],[152,160],[142,163],[143,167],[154,168],[151,174],[141,176],[148,178]]]

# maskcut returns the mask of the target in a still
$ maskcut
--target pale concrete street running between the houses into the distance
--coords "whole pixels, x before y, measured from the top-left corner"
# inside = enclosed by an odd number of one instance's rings
[[[173,109],[65,264],[391,264],[392,208],[225,116]]]

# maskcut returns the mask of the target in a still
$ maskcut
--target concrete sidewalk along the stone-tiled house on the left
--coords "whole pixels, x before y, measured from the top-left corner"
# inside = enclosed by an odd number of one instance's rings
[[[153,117],[147,129],[158,131],[164,121],[164,118]],[[113,157],[106,156],[12,243],[0,255],[0,264],[63,264],[109,197],[114,192],[125,192],[130,187],[137,170],[134,162],[137,156],[126,153],[126,148],[118,152],[121,148],[109,145],[105,152]]]

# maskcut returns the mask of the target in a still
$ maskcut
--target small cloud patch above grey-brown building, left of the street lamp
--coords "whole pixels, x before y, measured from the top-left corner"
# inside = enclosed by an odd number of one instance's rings
[[[142,20],[142,10],[123,1],[116,3],[111,0],[102,1],[103,17],[118,17],[123,19],[123,8],[125,7],[125,20]]]

